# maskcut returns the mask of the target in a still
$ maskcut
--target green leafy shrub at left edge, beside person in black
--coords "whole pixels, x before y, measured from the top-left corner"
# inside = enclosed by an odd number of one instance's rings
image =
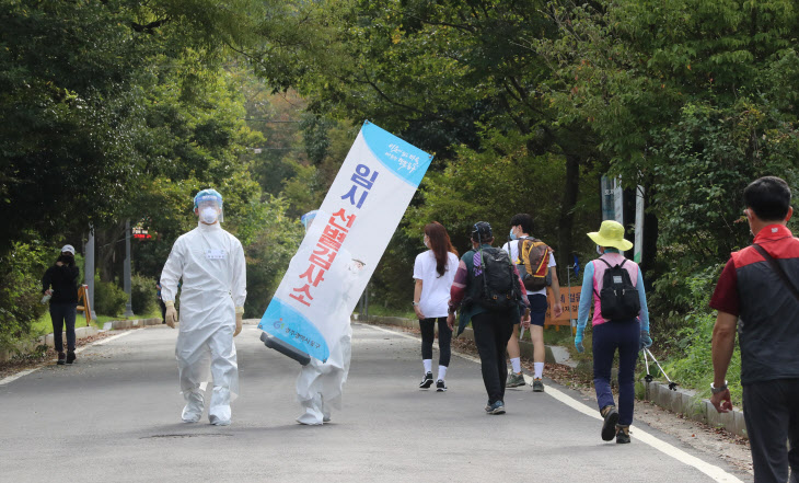
[[[47,310],[40,279],[50,252],[38,243],[14,243],[0,257],[0,347],[27,338],[31,325]]]

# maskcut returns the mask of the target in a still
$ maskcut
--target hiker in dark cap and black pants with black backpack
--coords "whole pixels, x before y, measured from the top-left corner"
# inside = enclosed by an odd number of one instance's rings
[[[530,326],[530,302],[524,290],[522,280],[516,266],[505,254],[508,268],[518,280],[518,304],[508,308],[489,308],[480,303],[478,292],[482,287],[483,277],[486,276],[483,265],[482,251],[497,251],[493,249],[494,234],[491,226],[485,221],[474,225],[472,231],[472,250],[466,252],[458,266],[455,279],[450,290],[449,315],[447,324],[450,330],[455,322],[455,310],[463,302],[461,322],[458,334],[472,321],[474,330],[474,342],[477,345],[477,353],[480,357],[480,369],[483,371],[483,383],[488,393],[488,404],[485,410],[488,414],[505,414],[505,382],[508,377],[508,363],[505,358],[505,348],[508,345],[510,334],[513,333],[513,324],[521,323]],[[494,253],[494,252],[491,252]],[[505,252],[501,252],[505,253]],[[524,315],[520,318],[520,309],[524,307]]]

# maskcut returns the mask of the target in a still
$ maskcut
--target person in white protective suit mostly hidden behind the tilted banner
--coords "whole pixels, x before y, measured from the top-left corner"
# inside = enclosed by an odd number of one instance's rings
[[[302,225],[308,232],[311,223],[316,216],[316,211],[311,211],[302,216]],[[344,255],[344,250],[339,252],[339,256]],[[340,301],[345,304],[345,294],[352,283],[352,278],[358,275],[358,271],[363,266],[362,262],[354,261],[349,264],[347,272],[339,279],[341,285],[338,289],[343,290]],[[340,317],[341,310],[331,307],[329,313]],[[344,383],[347,382],[349,373],[349,360],[352,354],[352,327],[349,324],[349,318],[346,322],[344,334],[329,347],[329,356],[327,361],[323,363],[315,357],[311,357],[311,361],[302,366],[300,375],[297,377],[297,400],[302,405],[304,413],[297,418],[298,423],[308,425],[321,425],[331,421],[331,411],[333,409],[341,409],[341,394],[344,392]]]

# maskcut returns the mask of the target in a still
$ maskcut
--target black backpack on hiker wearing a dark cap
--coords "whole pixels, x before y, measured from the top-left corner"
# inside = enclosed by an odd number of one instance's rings
[[[482,262],[480,266],[475,264],[473,271],[473,283],[476,285],[473,301],[489,310],[518,307],[521,301],[521,287],[508,253],[505,250],[489,248],[479,250],[475,257],[477,256]]]

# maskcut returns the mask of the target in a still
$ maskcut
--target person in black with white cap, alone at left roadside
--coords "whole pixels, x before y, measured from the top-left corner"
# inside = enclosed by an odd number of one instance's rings
[[[80,271],[74,265],[74,248],[63,245],[55,265],[47,268],[42,277],[42,294],[50,296],[50,319],[53,338],[58,352],[58,365],[72,364],[74,356],[74,319],[78,307],[78,277]],[[63,354],[62,331],[67,331],[67,354]]]

